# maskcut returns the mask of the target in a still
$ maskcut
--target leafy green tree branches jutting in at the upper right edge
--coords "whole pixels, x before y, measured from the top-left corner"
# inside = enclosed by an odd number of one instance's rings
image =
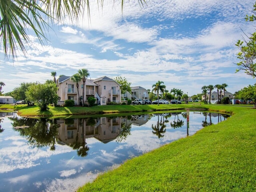
[[[252,10],[252,15],[246,15],[246,21],[254,21],[256,20],[256,2],[254,3],[254,9]],[[238,69],[236,72],[240,70],[244,70],[246,74],[256,77],[256,32],[247,36],[247,40],[243,38],[244,41],[238,40],[236,46],[240,49],[240,52],[237,54],[237,58],[240,62],[236,63]],[[245,43],[245,45],[244,45]]]

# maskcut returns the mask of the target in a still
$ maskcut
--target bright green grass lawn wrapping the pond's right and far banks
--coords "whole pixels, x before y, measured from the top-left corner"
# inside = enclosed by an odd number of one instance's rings
[[[0,109],[3,107],[0,105]],[[77,192],[256,191],[256,109],[242,105],[140,105],[50,108],[18,106],[20,115],[72,115],[206,108],[232,116],[100,174]],[[11,109],[11,108],[10,108]],[[145,138],[146,139],[146,138]]]

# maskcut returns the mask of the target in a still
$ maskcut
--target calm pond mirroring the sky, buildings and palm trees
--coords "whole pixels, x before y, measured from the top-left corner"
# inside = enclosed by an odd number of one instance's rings
[[[72,192],[127,159],[226,118],[195,111],[73,119],[0,113],[0,191]]]

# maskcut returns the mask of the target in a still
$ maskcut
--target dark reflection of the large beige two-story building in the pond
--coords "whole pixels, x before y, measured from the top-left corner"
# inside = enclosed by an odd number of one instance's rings
[[[89,122],[90,121],[90,122]],[[131,124],[127,117],[101,117],[101,118],[84,118],[84,131],[82,119],[57,120],[59,127],[59,140],[67,145],[72,145],[76,141],[82,143],[82,134],[84,138],[94,137],[103,143],[114,140],[123,126]]]

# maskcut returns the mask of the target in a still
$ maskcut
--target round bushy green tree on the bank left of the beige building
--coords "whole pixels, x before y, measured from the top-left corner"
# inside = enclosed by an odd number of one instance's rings
[[[32,84],[26,91],[26,98],[34,101],[40,111],[48,109],[49,104],[56,104],[58,101],[57,87],[55,83]]]

